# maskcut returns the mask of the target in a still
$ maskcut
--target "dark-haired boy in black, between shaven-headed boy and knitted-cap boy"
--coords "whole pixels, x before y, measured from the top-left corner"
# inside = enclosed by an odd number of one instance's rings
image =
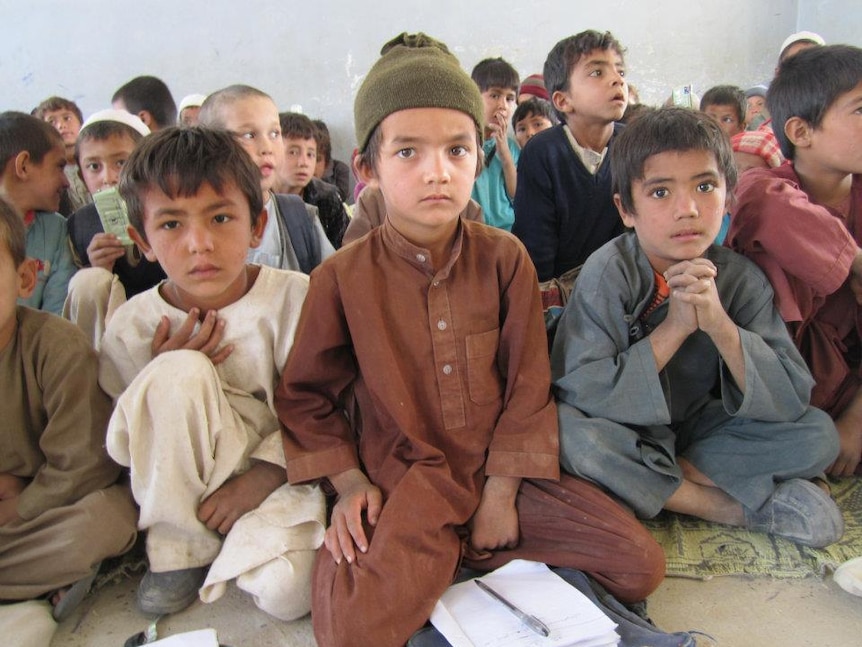
[[[338,249],[350,218],[338,189],[314,177],[317,129],[311,119],[296,112],[283,112],[279,117],[284,163],[278,169],[278,188],[282,193],[298,195],[306,204],[317,207],[326,237]]]

